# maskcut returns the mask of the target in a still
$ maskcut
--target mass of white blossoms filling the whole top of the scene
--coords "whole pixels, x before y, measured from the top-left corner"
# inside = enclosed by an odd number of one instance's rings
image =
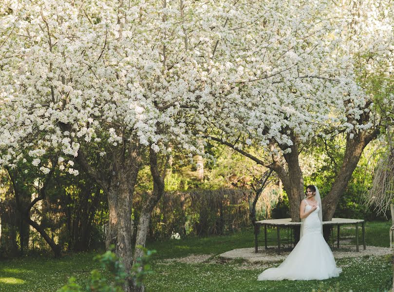
[[[357,14],[329,0],[185,1],[182,14],[161,0],[0,5],[13,7],[0,18],[2,165],[23,150],[35,166],[48,152],[76,157],[81,144],[104,156],[134,137],[197,153],[211,131],[291,146],[291,132],[368,128],[348,122],[370,100],[357,77],[394,63],[389,0]]]

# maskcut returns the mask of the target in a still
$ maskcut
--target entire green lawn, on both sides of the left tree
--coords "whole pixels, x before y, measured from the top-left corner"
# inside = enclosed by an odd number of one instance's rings
[[[389,246],[390,222],[366,224],[367,245]],[[361,233],[361,232],[360,232]],[[268,236],[275,237],[276,230],[269,229]],[[354,230],[342,229],[341,236],[355,234]],[[284,234],[283,234],[284,235]],[[263,239],[262,235],[260,236]],[[360,238],[361,239],[361,238]],[[146,292],[377,292],[390,285],[391,262],[387,257],[360,257],[337,260],[343,272],[338,278],[324,281],[256,281],[257,275],[270,265],[252,265],[239,260],[222,263],[178,263],[171,259],[188,255],[215,256],[235,248],[253,246],[252,230],[244,230],[226,236],[185,238],[163,242],[151,242],[149,249],[157,250],[152,262],[153,273],[146,283]],[[92,260],[99,252],[78,253],[60,259],[23,257],[0,261],[1,292],[55,292],[70,276],[78,283],[98,268]],[[378,290],[379,289],[379,290]]]

